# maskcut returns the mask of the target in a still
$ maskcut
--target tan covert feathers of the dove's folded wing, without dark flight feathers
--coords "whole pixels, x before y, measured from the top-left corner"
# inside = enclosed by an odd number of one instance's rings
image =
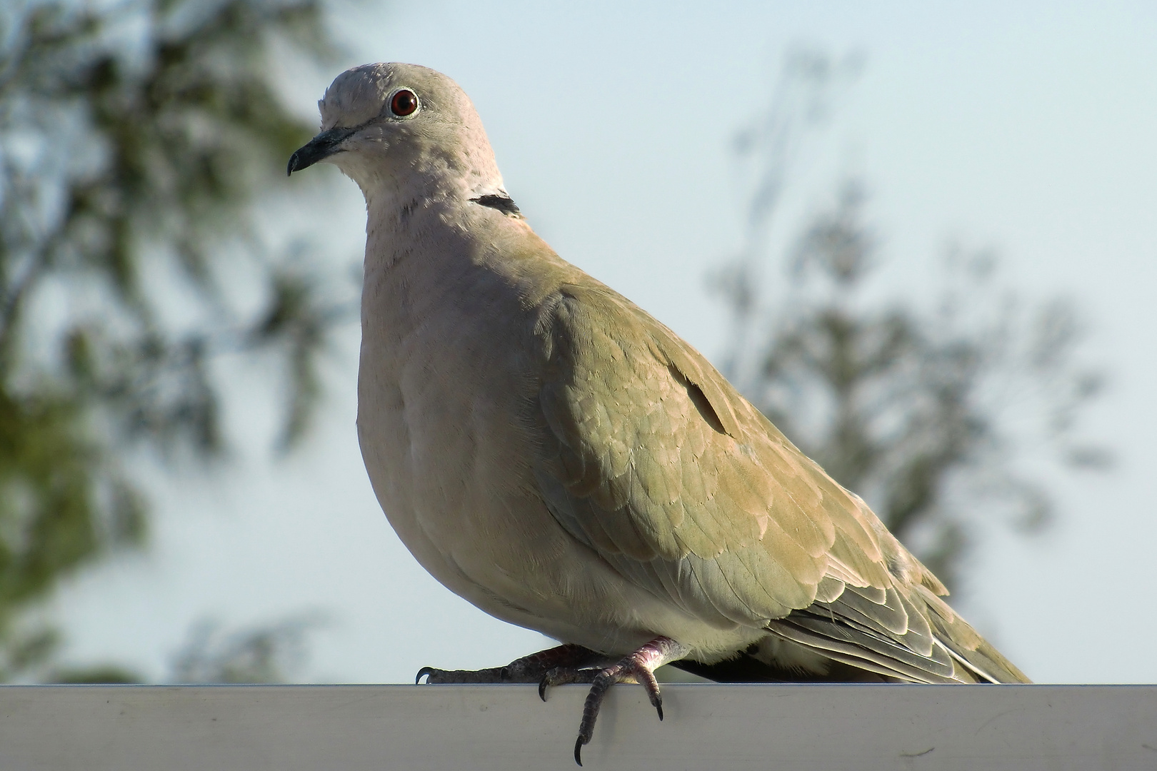
[[[598,287],[544,307],[538,479],[569,533],[617,566],[656,563],[624,568],[653,592],[695,576],[677,600],[745,623],[810,605],[833,547],[843,577],[887,585],[855,499],[697,351]]]

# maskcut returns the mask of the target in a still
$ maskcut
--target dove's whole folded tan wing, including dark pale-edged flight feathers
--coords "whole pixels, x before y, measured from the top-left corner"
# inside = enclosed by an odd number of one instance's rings
[[[691,346],[594,281],[563,284],[537,333],[536,476],[574,538],[721,629],[766,627],[905,680],[970,679],[934,629],[958,620],[943,585]]]

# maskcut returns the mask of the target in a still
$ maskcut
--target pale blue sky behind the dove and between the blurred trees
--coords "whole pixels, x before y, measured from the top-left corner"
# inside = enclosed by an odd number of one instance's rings
[[[912,296],[948,240],[996,247],[1025,295],[1079,303],[1082,355],[1111,376],[1086,432],[1118,468],[1047,476],[1060,511],[1044,536],[983,528],[959,607],[1040,682],[1157,681],[1157,661],[1136,654],[1157,636],[1157,6],[370,5],[341,7],[352,55],[299,84],[302,109],[364,61],[449,74],[539,233],[713,358],[725,317],[705,276],[739,239],[731,138],[766,106],[788,46],[862,52],[858,84],[794,183],[796,209],[860,176],[887,281]],[[318,173],[327,207],[279,206],[346,260],[363,239],[360,195]],[[242,381],[229,410],[241,450],[216,476],[150,475],[152,548],[53,605],[71,660],[161,677],[200,617],[236,627],[311,609],[330,618],[311,638],[314,681],[406,682],[426,665],[498,666],[545,645],[454,596],[393,535],[354,435],[356,344],[347,329],[329,359],[312,443],[275,462],[266,392],[243,383],[255,365],[224,364]],[[1121,598],[1132,591],[1136,605]]]

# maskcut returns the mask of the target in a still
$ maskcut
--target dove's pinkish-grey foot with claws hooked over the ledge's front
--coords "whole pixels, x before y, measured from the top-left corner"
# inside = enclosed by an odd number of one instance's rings
[[[614,683],[636,682],[647,690],[647,698],[651,706],[658,712],[658,719],[663,719],[663,696],[658,692],[658,682],[655,680],[655,670],[670,661],[678,661],[685,657],[690,650],[687,646],[676,643],[669,637],[656,637],[647,645],[634,653],[624,657],[618,662],[605,669],[590,667],[555,667],[543,675],[538,683],[538,695],[546,700],[546,688],[548,685],[562,685],[565,683],[590,683],[590,692],[587,694],[587,702],[582,707],[582,722],[578,724],[578,739],[575,741],[575,763],[582,765],[583,744],[590,743],[595,735],[595,720],[598,719],[598,710],[603,706],[603,698],[606,690]]]

